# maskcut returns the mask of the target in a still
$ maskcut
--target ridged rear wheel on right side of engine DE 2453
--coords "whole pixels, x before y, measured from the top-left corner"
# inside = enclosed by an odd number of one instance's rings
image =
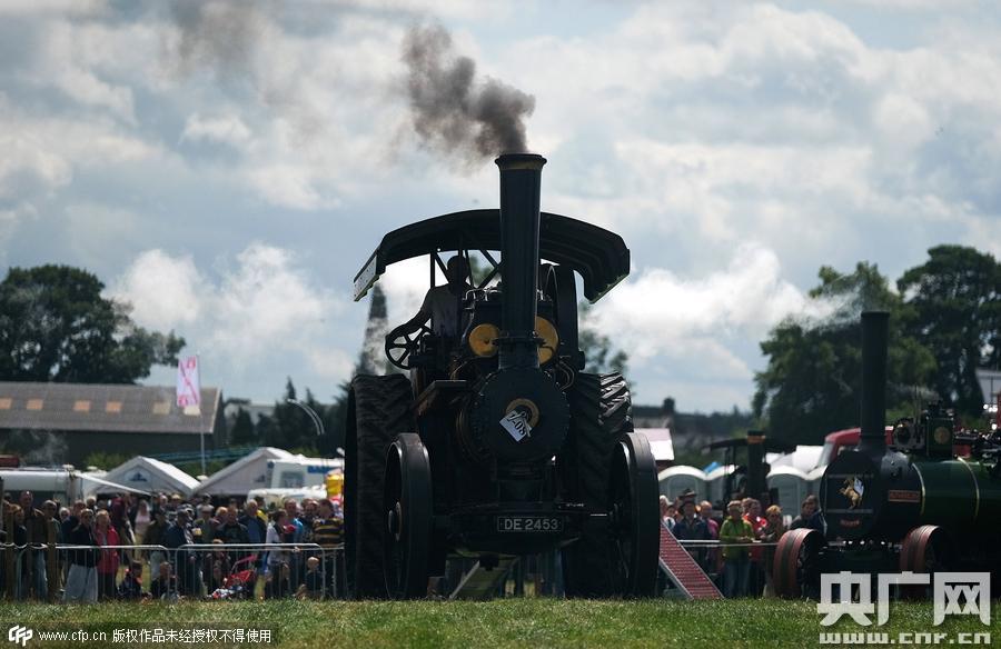
[[[571,408],[569,433],[566,447],[556,457],[564,500],[606,512],[615,448],[622,435],[633,430],[630,389],[620,373],[579,372],[566,398]],[[562,552],[566,597],[618,595],[613,580],[616,556],[607,529],[585,529]]]

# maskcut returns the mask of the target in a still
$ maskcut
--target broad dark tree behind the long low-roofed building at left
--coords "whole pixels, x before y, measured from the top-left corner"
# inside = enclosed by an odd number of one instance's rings
[[[16,381],[133,383],[177,362],[184,338],[136,326],[130,307],[68,266],[11,268],[0,283],[0,377]]]

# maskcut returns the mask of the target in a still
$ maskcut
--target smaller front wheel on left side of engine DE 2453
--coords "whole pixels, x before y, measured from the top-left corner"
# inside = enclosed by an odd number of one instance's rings
[[[413,432],[397,436],[386,455],[386,590],[394,599],[427,595],[432,541],[432,477],[427,449]]]

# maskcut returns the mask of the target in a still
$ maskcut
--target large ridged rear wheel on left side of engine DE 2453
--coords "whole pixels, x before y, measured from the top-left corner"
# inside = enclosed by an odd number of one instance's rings
[[[413,430],[410,382],[402,375],[358,376],[348,392],[344,460],[344,528],[347,595],[387,596],[383,563],[386,451],[396,435]]]

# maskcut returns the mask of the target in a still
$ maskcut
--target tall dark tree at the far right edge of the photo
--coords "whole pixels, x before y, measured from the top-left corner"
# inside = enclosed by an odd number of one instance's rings
[[[960,412],[979,417],[977,368],[1001,366],[1001,264],[961,246],[938,246],[896,286],[914,310],[909,332],[938,362],[932,387]]]

